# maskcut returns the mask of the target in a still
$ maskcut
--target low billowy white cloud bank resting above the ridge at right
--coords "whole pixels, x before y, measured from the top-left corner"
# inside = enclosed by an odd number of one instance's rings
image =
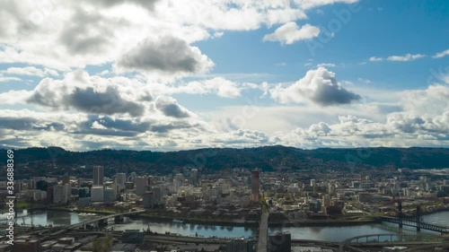
[[[339,123],[319,123],[279,135],[279,143],[297,147],[441,146],[449,140],[449,111],[438,117],[408,112],[387,115],[384,123],[340,116]]]

